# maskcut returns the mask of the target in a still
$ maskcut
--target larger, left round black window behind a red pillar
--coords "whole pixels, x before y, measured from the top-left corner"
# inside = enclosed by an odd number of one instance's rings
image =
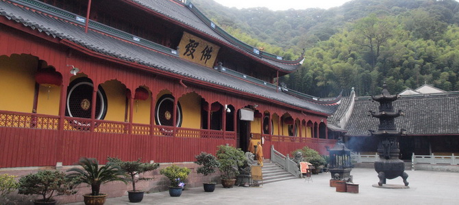
[[[91,118],[92,90],[94,85],[88,78],[79,78],[69,85],[67,90],[66,116]],[[99,85],[96,94],[95,118],[103,120],[107,113],[107,97]]]

